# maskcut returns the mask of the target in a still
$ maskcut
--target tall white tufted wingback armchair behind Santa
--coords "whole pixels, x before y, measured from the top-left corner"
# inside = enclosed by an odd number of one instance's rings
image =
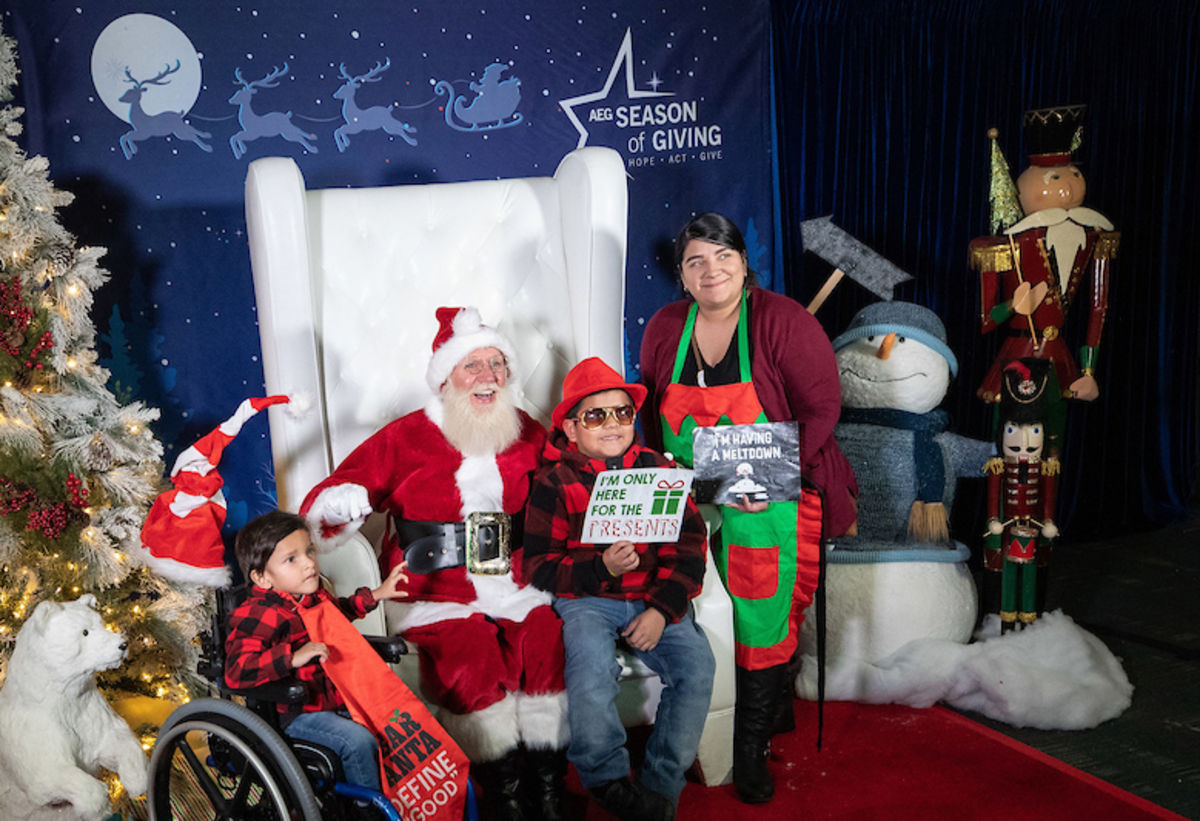
[[[580,359],[623,370],[626,204],[623,162],[605,148],[571,151],[552,178],[372,188],[310,191],[292,160],[252,162],[246,223],[266,390],[314,404],[270,419],[280,507],[295,510],[359,443],[425,404],[438,306],[475,306],[512,342],[522,406],[544,424]],[[374,557],[356,534],[322,568],[344,593],[379,583]],[[359,629],[385,633],[382,611]],[[696,613],[718,659],[700,756],[718,784],[732,769],[733,635],[712,561]],[[415,689],[413,672],[401,669]],[[625,678],[625,723],[652,721],[658,677]]]

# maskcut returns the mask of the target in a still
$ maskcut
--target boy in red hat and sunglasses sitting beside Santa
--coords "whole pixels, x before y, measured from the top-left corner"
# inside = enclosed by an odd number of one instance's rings
[[[566,649],[568,757],[593,798],[622,819],[671,819],[700,747],[713,690],[713,652],[689,612],[704,577],[707,537],[688,499],[673,544],[580,540],[596,475],[671,467],[634,442],[646,388],[625,384],[600,359],[563,379],[563,401],[534,474],[524,522],[524,574],[554,594]],[[662,679],[662,699],[637,781],[629,778],[617,713],[624,645]]]

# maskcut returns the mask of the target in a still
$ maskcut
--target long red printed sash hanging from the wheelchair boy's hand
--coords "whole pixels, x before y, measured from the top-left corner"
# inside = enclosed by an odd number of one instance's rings
[[[300,607],[308,639],[329,647],[322,666],[350,717],[379,739],[383,792],[406,821],[458,821],[468,761],[400,677],[332,601]]]

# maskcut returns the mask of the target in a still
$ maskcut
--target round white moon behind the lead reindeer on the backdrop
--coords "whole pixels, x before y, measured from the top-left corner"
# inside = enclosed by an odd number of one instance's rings
[[[154,14],[125,14],[104,26],[91,49],[91,82],[100,98],[116,116],[130,121],[130,103],[121,95],[133,88],[125,76],[148,80],[175,66],[162,85],[146,85],[142,110],[146,114],[186,114],[200,96],[200,58],[179,26]]]

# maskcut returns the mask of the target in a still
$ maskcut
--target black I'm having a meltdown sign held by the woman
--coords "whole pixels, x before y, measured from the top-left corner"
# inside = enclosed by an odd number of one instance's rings
[[[696,501],[733,504],[800,498],[800,432],[796,423],[720,425],[692,433]]]

